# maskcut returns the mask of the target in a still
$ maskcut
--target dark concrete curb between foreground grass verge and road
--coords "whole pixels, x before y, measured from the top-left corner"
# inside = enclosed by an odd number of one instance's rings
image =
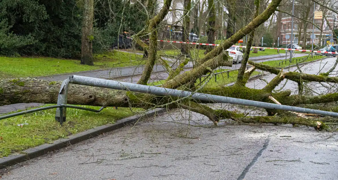
[[[94,138],[105,132],[110,132],[118,128],[124,127],[126,125],[135,123],[139,119],[155,116],[155,115],[162,114],[165,112],[166,112],[166,109],[150,110],[143,115],[135,115],[135,116],[131,116],[131,117],[118,120],[115,124],[106,124],[106,125],[94,127],[92,129],[68,136],[68,139],[55,140],[53,144],[43,144],[43,145],[40,145],[34,148],[29,148],[23,151],[26,154],[17,154],[17,155],[10,155],[7,157],[2,157],[0,158],[0,169],[4,169],[9,166],[13,166],[17,163],[24,162],[29,159],[33,159],[33,158],[45,155],[48,152],[62,149],[64,147],[73,145],[75,143],[79,143],[81,141]]]

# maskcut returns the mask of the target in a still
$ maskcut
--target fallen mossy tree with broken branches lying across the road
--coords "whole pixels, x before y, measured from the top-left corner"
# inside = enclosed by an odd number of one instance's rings
[[[338,83],[337,77],[329,77],[327,75],[311,75],[301,72],[283,72],[261,63],[248,61],[253,65],[250,69],[244,70],[245,66],[242,65],[238,79],[234,86],[231,87],[208,87],[206,84],[213,75],[213,70],[219,66],[232,66],[232,59],[228,57],[228,52],[225,50],[230,48],[235,42],[249,34],[249,39],[254,36],[255,28],[260,24],[267,21],[271,14],[274,13],[279,6],[281,0],[272,0],[269,6],[261,13],[256,14],[255,18],[245,27],[240,29],[233,36],[222,42],[220,46],[211,50],[206,56],[195,61],[195,66],[190,71],[180,73],[181,67],[173,70],[171,67],[157,55],[157,33],[156,28],[169,11],[171,0],[164,1],[164,6],[156,16],[148,20],[146,27],[133,38],[147,52],[147,59],[144,71],[141,75],[138,84],[147,84],[150,74],[153,70],[153,65],[156,61],[162,63],[169,73],[169,78],[162,85],[165,88],[172,89],[185,89],[195,92],[270,102],[280,103],[289,106],[299,104],[316,104],[326,103],[338,100],[338,93],[318,95],[318,96],[305,96],[305,95],[291,95],[290,90],[281,92],[273,92],[284,79],[295,82],[330,82]],[[256,9],[259,8],[259,1],[255,1]],[[145,44],[140,39],[149,35],[149,45]],[[250,51],[246,51],[248,57]],[[246,60],[247,61],[247,58]],[[188,63],[185,60],[181,65]],[[179,66],[181,66],[179,65]],[[183,67],[182,66],[182,67]],[[246,87],[251,74],[256,70],[267,71],[276,74],[276,77],[270,81],[263,89],[252,89]],[[196,80],[203,75],[209,74],[210,77],[201,84],[197,84]],[[61,82],[51,82],[38,79],[20,78],[20,79],[0,79],[0,106],[22,103],[22,102],[39,102],[39,103],[56,103],[57,94]],[[68,103],[91,105],[91,106],[111,106],[111,107],[136,107],[136,108],[183,108],[194,111],[207,116],[215,124],[221,119],[233,119],[241,122],[259,122],[259,123],[273,123],[273,124],[302,124],[315,127],[316,129],[329,130],[329,127],[324,123],[316,120],[309,120],[306,118],[292,118],[288,121],[283,116],[257,116],[245,117],[244,114],[227,111],[225,109],[214,110],[203,103],[211,103],[196,101],[190,98],[177,99],[167,96],[155,96],[152,94],[135,93],[121,90],[112,90],[105,88],[96,88],[81,85],[70,85],[68,91]],[[287,113],[278,113],[267,109],[268,115],[285,115]],[[291,116],[295,116],[294,114]],[[319,122],[319,123],[318,123]]]

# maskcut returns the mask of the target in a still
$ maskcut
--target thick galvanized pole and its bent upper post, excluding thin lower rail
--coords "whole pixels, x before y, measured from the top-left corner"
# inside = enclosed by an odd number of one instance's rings
[[[59,91],[59,97],[57,101],[58,103],[67,104],[68,82],[71,84],[118,89],[118,90],[132,91],[132,92],[141,92],[141,93],[148,93],[148,94],[155,94],[155,95],[162,95],[162,96],[173,96],[173,97],[191,96],[191,98],[193,99],[201,100],[204,102],[239,104],[239,105],[254,106],[254,107],[259,107],[259,108],[294,111],[294,112],[300,112],[300,113],[311,113],[311,114],[320,114],[323,116],[338,117],[338,113],[328,112],[328,111],[320,111],[320,110],[314,110],[314,109],[285,106],[281,104],[273,104],[273,103],[268,103],[268,102],[252,101],[252,100],[217,96],[217,95],[211,95],[211,94],[192,93],[190,91],[182,91],[182,90],[177,90],[177,89],[168,89],[168,88],[161,88],[161,87],[155,87],[155,86],[132,84],[132,83],[125,83],[125,82],[119,82],[119,81],[104,80],[104,79],[90,78],[90,77],[83,77],[83,76],[76,76],[76,75],[69,77],[67,80],[64,81]],[[59,116],[59,115],[56,114],[56,116]]]

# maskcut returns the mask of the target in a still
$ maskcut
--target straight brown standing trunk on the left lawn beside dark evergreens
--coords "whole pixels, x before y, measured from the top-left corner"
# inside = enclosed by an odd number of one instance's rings
[[[93,62],[93,16],[94,0],[84,0],[82,38],[81,38],[81,64],[94,65]]]

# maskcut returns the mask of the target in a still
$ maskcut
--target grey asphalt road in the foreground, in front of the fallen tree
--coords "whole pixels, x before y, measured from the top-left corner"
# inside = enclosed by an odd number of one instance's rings
[[[210,123],[196,113],[173,111],[24,162],[2,179],[338,177],[337,133],[291,125],[223,123],[202,128],[178,124],[188,119],[192,125]]]

